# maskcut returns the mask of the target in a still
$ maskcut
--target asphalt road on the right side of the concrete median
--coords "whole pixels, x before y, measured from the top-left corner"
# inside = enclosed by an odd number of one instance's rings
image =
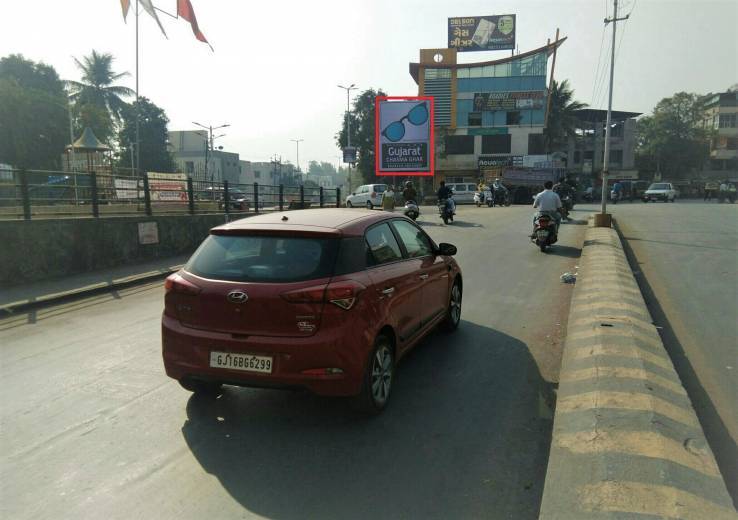
[[[738,205],[608,206],[738,503]]]

